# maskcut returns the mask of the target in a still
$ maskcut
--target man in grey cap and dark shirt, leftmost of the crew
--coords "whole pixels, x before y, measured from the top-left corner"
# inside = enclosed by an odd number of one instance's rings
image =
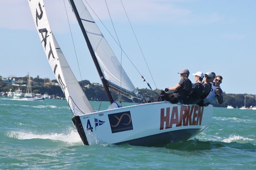
[[[171,103],[187,103],[188,97],[191,93],[192,83],[188,79],[189,71],[188,69],[182,69],[180,72],[180,82],[173,87],[165,88],[165,90],[161,93],[162,100],[170,101]],[[173,93],[166,93],[168,90],[175,90]]]

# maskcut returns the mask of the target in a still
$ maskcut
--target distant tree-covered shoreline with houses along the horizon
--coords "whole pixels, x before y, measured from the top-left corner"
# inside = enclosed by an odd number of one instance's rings
[[[7,95],[7,93],[12,90],[15,91],[20,88],[23,93],[26,93],[27,84],[29,81],[29,76],[26,75],[24,77],[2,77],[0,76],[0,92],[1,95]],[[32,93],[42,94],[47,93],[50,98],[64,98],[64,94],[61,91],[61,88],[57,82],[57,80],[50,80],[49,78],[40,78],[39,75],[36,77],[30,77],[30,84]],[[79,81],[81,88],[84,90],[87,98],[89,100],[94,101],[108,101],[108,98],[105,94],[103,86],[99,83],[91,83],[88,80]],[[161,93],[161,89],[138,89],[144,99],[146,101],[154,99],[158,94]],[[4,95],[3,95],[4,94]],[[119,102],[118,94],[111,92],[115,101]],[[246,107],[256,106],[256,96],[252,94],[226,94],[224,92],[223,99],[224,102],[222,104],[215,105],[216,107],[227,107],[227,105],[232,105],[234,107],[242,107],[244,106],[244,96],[246,97]],[[131,99],[126,97],[121,97],[122,102],[132,102]],[[138,99],[134,99],[135,103],[142,103],[142,101]]]

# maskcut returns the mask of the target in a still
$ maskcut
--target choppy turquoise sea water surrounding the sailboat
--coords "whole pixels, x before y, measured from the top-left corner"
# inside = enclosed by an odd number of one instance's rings
[[[256,169],[256,110],[215,107],[208,129],[163,147],[85,146],[72,116],[66,100],[0,97],[0,169]]]

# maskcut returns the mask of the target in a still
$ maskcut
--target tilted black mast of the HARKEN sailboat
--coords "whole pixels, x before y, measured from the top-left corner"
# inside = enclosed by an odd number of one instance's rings
[[[96,58],[96,56],[95,56],[95,53],[94,53],[94,51],[93,51],[93,49],[92,49],[91,42],[90,42],[90,40],[89,40],[89,38],[88,38],[88,36],[87,36],[87,34],[86,34],[86,31],[85,31],[85,29],[84,29],[84,25],[83,25],[83,23],[82,23],[82,21],[81,21],[81,18],[80,18],[80,16],[79,16],[78,12],[77,12],[76,5],[75,5],[75,3],[74,3],[73,0],[69,0],[69,2],[70,2],[70,4],[71,4],[71,6],[72,6],[72,9],[73,9],[74,14],[75,14],[76,19],[77,19],[77,22],[78,22],[78,24],[79,24],[79,26],[80,26],[80,28],[81,28],[83,34],[84,34],[84,39],[85,39],[86,44],[87,44],[87,46],[88,46],[88,49],[89,49],[89,51],[90,51],[90,53],[91,53],[91,56],[92,56],[92,60],[93,60],[93,62],[94,62],[94,65],[95,65],[95,67],[96,67],[96,69],[97,69],[97,71],[98,71],[98,73],[99,73],[100,80],[101,80],[101,82],[102,82],[102,84],[103,84],[103,87],[104,87],[104,89],[106,90],[106,93],[107,93],[107,96],[108,96],[108,100],[109,100],[109,102],[112,104],[114,100],[113,100],[113,97],[112,97],[112,95],[110,94],[110,91],[109,91],[109,89],[108,89],[107,80],[104,78],[104,75],[103,75],[103,73],[102,73],[102,71],[101,71],[101,68],[100,68],[100,65],[99,65],[99,63],[98,63],[98,60],[97,60],[97,58]],[[90,22],[90,21],[88,21],[88,22]]]

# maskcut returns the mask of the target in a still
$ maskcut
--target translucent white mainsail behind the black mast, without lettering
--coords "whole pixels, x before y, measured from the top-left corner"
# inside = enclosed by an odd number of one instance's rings
[[[89,46],[92,46],[93,52],[100,66],[100,71],[103,73],[104,79],[108,83],[108,88],[112,91],[119,92],[129,98],[136,97],[142,99],[142,96],[138,94],[138,91],[135,89],[132,81],[125,73],[123,67],[121,66],[112,49],[108,45],[108,42],[100,32],[100,29],[94,22],[83,1],[69,0],[69,2],[75,13],[78,23],[80,21],[82,22],[82,27],[81,25],[80,27],[82,31],[84,29],[87,34],[87,37],[90,41]],[[76,14],[76,11],[78,15]]]

